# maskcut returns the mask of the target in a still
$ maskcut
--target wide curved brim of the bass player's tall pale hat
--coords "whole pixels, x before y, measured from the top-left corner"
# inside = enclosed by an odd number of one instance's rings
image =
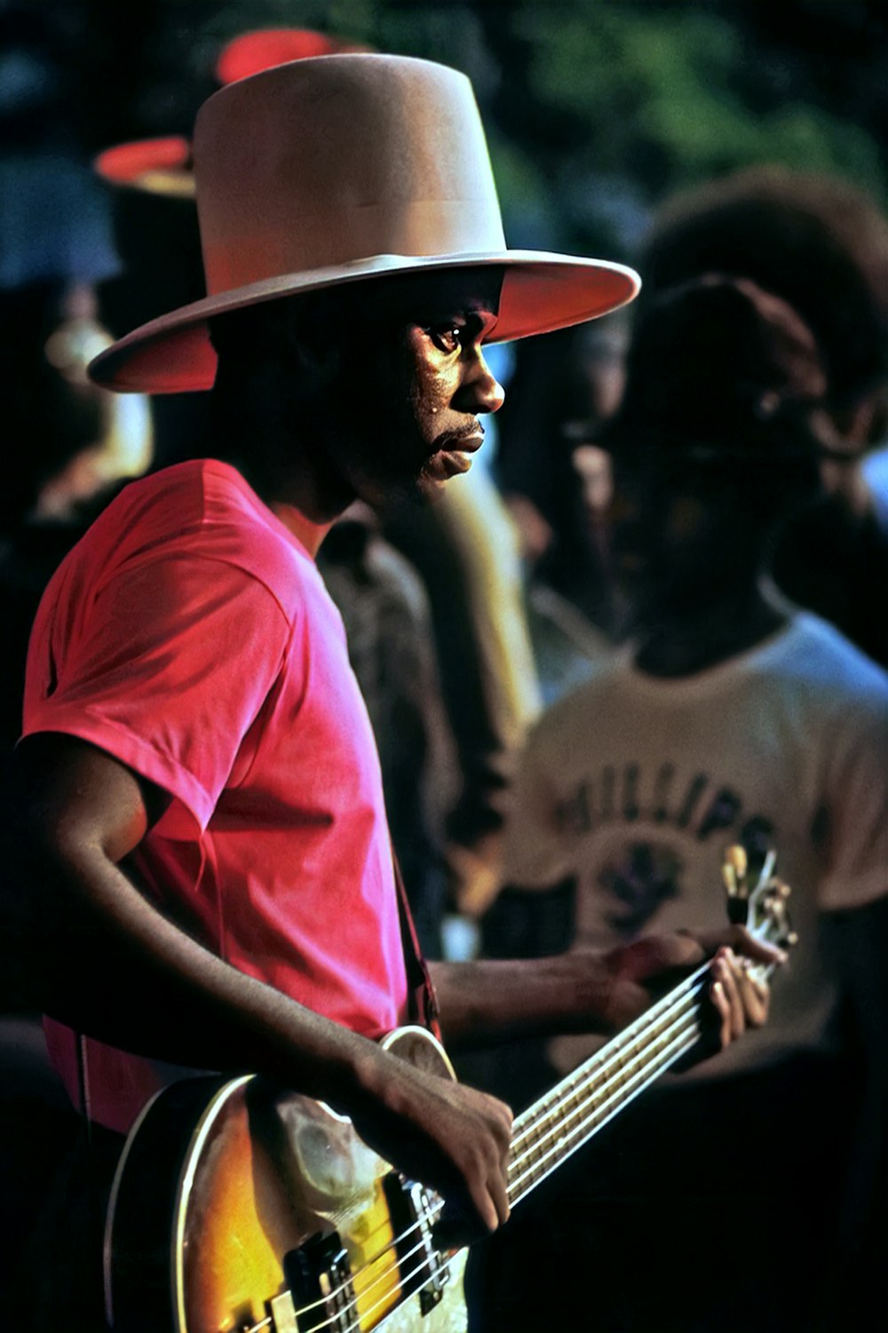
[[[619,309],[639,292],[639,275],[623,264],[553,255],[545,251],[503,251],[496,255],[375,255],[333,268],[311,269],[251,283],[183,305],[120,339],[89,365],[89,376],[104,388],[131,393],[187,393],[209,389],[216,377],[216,353],[208,320],[263,301],[300,292],[340,287],[395,273],[503,268],[503,291],[488,343],[509,343],[551,333]]]

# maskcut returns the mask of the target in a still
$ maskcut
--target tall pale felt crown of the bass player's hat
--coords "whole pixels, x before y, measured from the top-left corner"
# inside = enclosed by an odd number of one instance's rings
[[[319,56],[229,84],[199,113],[193,157],[211,296],[505,245],[472,85],[427,60]]]

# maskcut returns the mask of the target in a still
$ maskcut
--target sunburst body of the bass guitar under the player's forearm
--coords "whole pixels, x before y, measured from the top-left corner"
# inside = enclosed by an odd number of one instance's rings
[[[385,1045],[453,1077],[421,1028]],[[135,1126],[111,1197],[115,1333],[408,1333],[420,1318],[457,1333],[465,1254],[432,1246],[433,1201],[321,1102],[249,1076],[172,1084]]]

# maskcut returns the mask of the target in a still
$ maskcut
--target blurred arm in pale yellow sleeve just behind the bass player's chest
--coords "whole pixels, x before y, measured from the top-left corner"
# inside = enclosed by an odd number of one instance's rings
[[[445,914],[467,929],[496,893],[503,821],[540,685],[515,527],[484,468],[455,477],[435,507],[396,505],[383,533],[427,591],[455,758],[439,785]]]

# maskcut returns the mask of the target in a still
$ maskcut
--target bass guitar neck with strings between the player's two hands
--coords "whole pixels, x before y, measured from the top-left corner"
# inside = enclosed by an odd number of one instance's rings
[[[703,964],[544,1097],[517,1116],[509,1205],[529,1194],[608,1120],[697,1042],[709,966]]]

